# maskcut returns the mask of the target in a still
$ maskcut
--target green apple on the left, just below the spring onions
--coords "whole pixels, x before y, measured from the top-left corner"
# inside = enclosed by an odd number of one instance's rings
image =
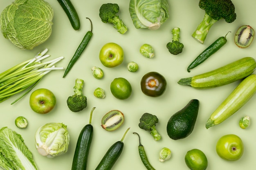
[[[56,104],[56,97],[46,88],[39,88],[31,93],[29,105],[36,113],[45,114],[51,111]]]

